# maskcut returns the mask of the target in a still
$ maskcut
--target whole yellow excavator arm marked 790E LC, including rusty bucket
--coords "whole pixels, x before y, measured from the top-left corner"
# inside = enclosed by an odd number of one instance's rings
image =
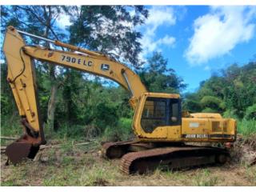
[[[42,46],[27,46],[21,34],[34,38],[41,38],[62,46],[70,51],[52,50]],[[27,34],[9,26],[3,45],[8,66],[7,81],[10,83],[14,94],[18,112],[22,117],[24,134],[18,141],[6,148],[6,154],[11,162],[19,162],[22,158],[34,157],[38,146],[46,143],[42,130],[42,122],[38,110],[37,85],[33,59],[53,63],[81,70],[89,74],[96,74],[118,82],[126,90],[130,91],[130,104],[135,108],[139,97],[146,92],[146,87],[140,78],[130,68],[104,54],[85,50],[77,46],[53,41],[50,39]]]

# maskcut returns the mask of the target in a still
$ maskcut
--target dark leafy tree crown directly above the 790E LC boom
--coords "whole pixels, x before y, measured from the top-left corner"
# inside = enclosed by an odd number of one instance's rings
[[[142,34],[134,30],[147,18],[144,6],[76,6],[70,11],[70,42],[110,54],[138,67]]]

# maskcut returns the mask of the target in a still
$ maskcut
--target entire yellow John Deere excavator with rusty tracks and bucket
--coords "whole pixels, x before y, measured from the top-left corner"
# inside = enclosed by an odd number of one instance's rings
[[[66,50],[26,45],[22,35],[44,40]],[[145,173],[156,167],[177,169],[225,163],[230,158],[225,148],[188,143],[234,142],[234,119],[222,118],[221,114],[182,113],[178,94],[148,92],[138,74],[105,54],[28,34],[13,26],[6,30],[3,51],[8,66],[7,81],[24,127],[22,137],[6,147],[10,162],[34,158],[39,146],[46,143],[39,114],[33,59],[109,78],[130,91],[130,105],[134,109],[132,126],[137,139],[102,145],[104,157],[122,158],[120,167],[126,174]]]

